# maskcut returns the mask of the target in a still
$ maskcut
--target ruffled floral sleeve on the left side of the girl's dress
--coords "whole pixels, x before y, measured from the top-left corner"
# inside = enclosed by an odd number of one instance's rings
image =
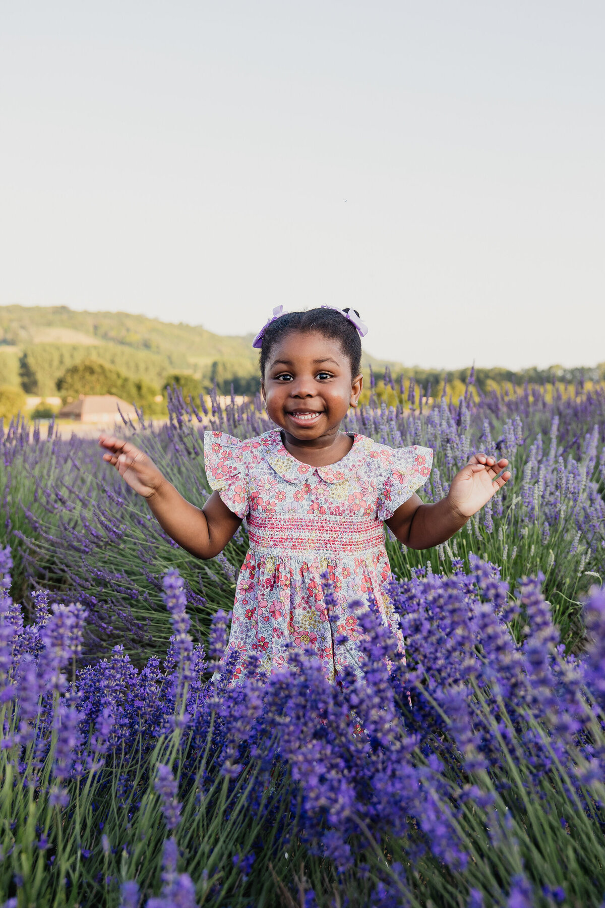
[[[204,463],[210,489],[239,518],[249,511],[248,469],[243,442],[225,432],[204,432]]]

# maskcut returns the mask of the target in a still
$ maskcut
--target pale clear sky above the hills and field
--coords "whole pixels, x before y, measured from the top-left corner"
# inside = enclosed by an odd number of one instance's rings
[[[605,4],[0,0],[0,304],[605,360]]]

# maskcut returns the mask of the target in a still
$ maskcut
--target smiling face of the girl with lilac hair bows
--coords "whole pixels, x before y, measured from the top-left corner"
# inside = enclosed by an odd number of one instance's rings
[[[289,331],[271,351],[262,381],[271,419],[300,441],[335,435],[363,387],[340,344],[317,331]]]

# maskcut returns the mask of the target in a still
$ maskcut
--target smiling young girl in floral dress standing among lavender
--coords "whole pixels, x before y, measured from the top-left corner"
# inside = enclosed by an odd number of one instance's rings
[[[356,616],[346,607],[362,599],[397,633],[385,594],[391,571],[386,525],[410,548],[449,539],[510,479],[508,461],[474,454],[446,498],[425,505],[415,494],[431,470],[427,448],[393,449],[341,431],[362,390],[356,313],[322,307],[274,310],[253,346],[260,349],[261,390],[277,428],[240,441],[206,432],[210,487],[203,507],[179,492],[129,441],[101,436],[103,459],[147,498],[171,538],[198,558],[225,548],[242,520],[250,548],[239,573],[227,653],[261,656],[260,670],[287,661],[288,641],[310,646],[334,680],[346,664],[358,671]],[[337,615],[323,605],[328,571]],[[347,642],[337,641],[346,635]],[[336,637],[336,640],[335,640]],[[239,672],[237,673],[239,674]]]

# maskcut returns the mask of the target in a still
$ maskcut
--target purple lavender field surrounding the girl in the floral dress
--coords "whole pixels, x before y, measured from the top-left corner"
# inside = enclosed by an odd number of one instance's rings
[[[605,392],[429,396],[387,374],[346,428],[433,448],[427,500],[477,449],[512,481],[450,544],[387,541],[406,660],[351,603],[365,681],[342,687],[298,649],[229,687],[244,529],[197,562],[93,442],[5,432],[5,903],[605,902]],[[259,401],[170,413],[124,432],[195,503],[203,428],[270,428]]]

